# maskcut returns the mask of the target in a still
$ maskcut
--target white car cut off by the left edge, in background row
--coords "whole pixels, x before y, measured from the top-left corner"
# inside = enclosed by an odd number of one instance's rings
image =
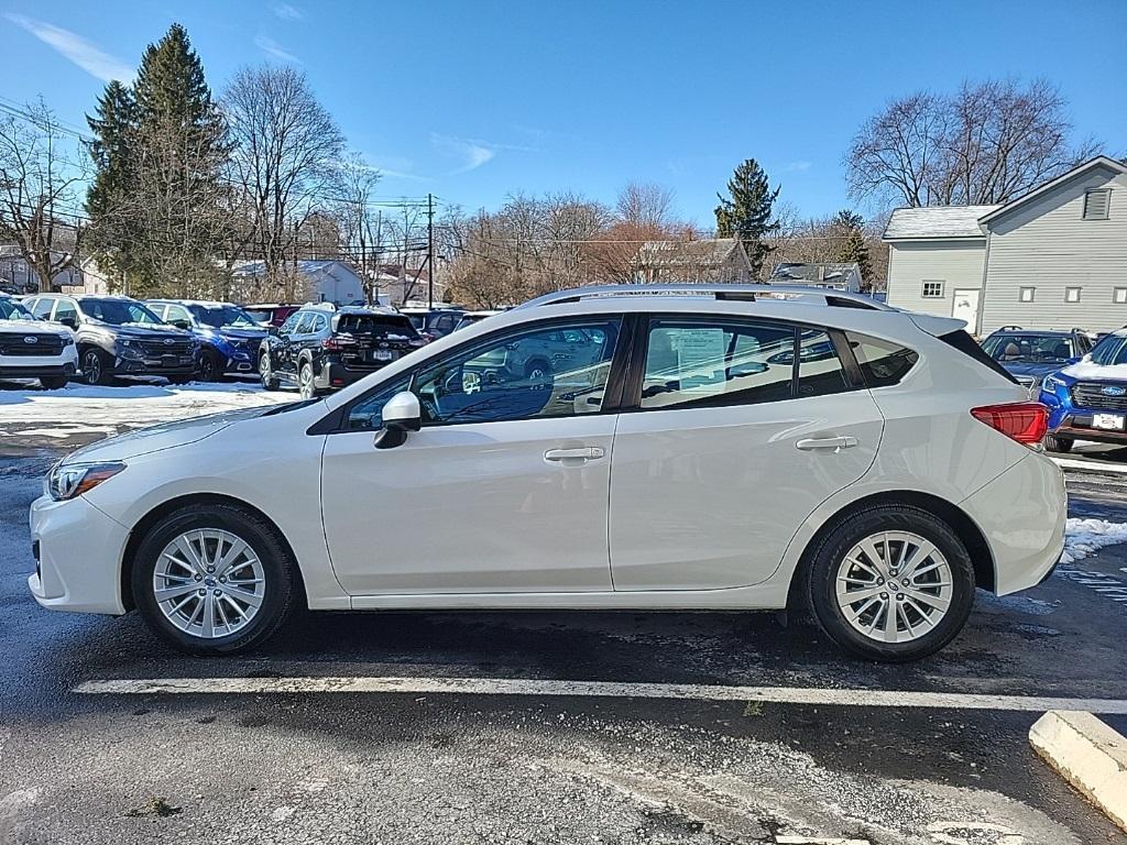
[[[0,294],[0,379],[38,379],[55,390],[76,375],[74,333],[36,319],[11,296]]]

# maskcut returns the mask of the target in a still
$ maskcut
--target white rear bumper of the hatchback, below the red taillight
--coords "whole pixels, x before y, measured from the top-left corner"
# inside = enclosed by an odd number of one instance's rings
[[[1064,473],[1045,455],[1030,452],[960,507],[990,544],[997,595],[1036,587],[1061,560],[1068,499]]]

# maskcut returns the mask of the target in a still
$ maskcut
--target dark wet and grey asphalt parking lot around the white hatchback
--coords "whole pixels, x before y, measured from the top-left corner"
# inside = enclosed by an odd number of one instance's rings
[[[0,843],[1127,842],[1032,754],[1039,712],[1017,697],[1127,699],[1127,545],[979,594],[964,634],[911,666],[842,657],[798,620],[673,613],[304,613],[259,652],[186,658],[135,614],[50,614],[27,594],[27,505],[94,436],[2,442]],[[1074,515],[1127,522],[1109,464],[1070,472]],[[78,691],[151,678],[188,692]],[[405,681],[339,681],[385,678]],[[843,690],[926,695],[842,705]],[[996,697],[955,706],[966,694]]]

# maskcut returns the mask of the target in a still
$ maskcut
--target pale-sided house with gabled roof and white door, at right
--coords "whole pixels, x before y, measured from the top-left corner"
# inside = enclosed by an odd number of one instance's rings
[[[1003,326],[1127,324],[1127,164],[1104,155],[1002,205],[897,208],[888,304]]]

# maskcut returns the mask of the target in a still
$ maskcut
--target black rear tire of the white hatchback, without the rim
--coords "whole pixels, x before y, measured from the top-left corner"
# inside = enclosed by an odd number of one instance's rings
[[[931,542],[951,571],[951,597],[946,613],[930,631],[904,642],[878,642],[853,628],[836,596],[838,564],[854,545],[886,531],[912,532]],[[889,593],[903,592],[895,582],[890,584]],[[815,621],[840,647],[870,660],[907,662],[935,653],[962,630],[975,601],[975,570],[958,534],[938,516],[908,505],[880,505],[849,514],[822,536],[809,559],[806,587]],[[900,624],[898,617],[895,624]]]

